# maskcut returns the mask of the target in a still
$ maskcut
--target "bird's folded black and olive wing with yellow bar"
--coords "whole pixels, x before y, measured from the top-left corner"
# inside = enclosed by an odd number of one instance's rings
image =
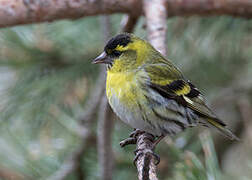
[[[167,99],[174,99],[180,105],[192,109],[200,117],[206,119],[206,122],[211,119],[225,126],[225,123],[207,107],[199,90],[170,62],[146,65],[143,70],[147,85],[160,95]]]

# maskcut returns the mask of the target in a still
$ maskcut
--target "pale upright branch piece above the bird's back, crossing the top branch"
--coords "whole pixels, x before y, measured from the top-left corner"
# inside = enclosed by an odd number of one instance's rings
[[[166,55],[166,0],[144,0],[149,42],[164,56]]]

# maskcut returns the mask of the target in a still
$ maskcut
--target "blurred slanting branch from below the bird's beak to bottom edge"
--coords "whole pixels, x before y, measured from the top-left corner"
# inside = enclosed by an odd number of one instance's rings
[[[97,83],[94,87],[96,91],[91,93],[91,97],[86,102],[85,110],[80,117],[80,129],[79,134],[81,135],[81,144],[79,147],[65,160],[62,166],[51,175],[48,180],[63,180],[72,172],[80,169],[81,160],[83,154],[86,151],[87,141],[91,138],[91,121],[95,119],[97,106],[101,100],[101,97],[104,92],[104,84],[105,83],[105,72],[104,69],[101,70],[100,75],[98,77]],[[94,121],[93,121],[94,122]],[[83,174],[78,173],[79,176],[83,176]],[[79,178],[80,179],[80,178]]]

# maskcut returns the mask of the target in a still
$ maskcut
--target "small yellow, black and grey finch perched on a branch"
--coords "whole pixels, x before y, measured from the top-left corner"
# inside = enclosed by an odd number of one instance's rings
[[[239,140],[207,106],[196,86],[146,40],[118,34],[92,62],[107,66],[106,95],[116,115],[158,137],[157,142],[195,126],[214,127]]]

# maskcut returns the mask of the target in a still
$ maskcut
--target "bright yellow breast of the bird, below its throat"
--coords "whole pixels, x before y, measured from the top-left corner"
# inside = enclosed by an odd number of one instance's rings
[[[134,106],[137,98],[137,88],[134,73],[107,72],[106,94],[109,101],[114,97],[124,105]]]

